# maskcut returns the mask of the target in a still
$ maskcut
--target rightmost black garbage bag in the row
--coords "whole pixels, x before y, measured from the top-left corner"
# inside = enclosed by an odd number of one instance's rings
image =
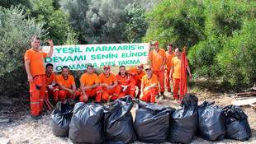
[[[226,120],[226,138],[239,141],[247,141],[252,136],[251,128],[242,108],[236,105],[228,105],[224,109]]]

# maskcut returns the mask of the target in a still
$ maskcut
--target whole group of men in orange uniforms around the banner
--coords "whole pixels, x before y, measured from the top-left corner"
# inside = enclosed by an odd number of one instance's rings
[[[44,67],[44,58],[51,57],[54,49],[53,40],[48,39],[47,42],[50,44],[49,53],[39,50],[39,37],[32,37],[31,49],[26,51],[24,57],[30,83],[31,117],[34,119],[41,118],[44,98],[46,96],[49,99],[49,95],[53,95],[55,101],[60,99],[62,102],[67,99],[74,100],[79,95],[79,100],[85,103],[88,102],[88,98],[94,96],[95,102],[100,103],[102,100],[114,101],[130,95],[131,98],[136,97],[155,103],[155,98],[161,96],[165,99],[165,87],[168,93],[171,93],[170,81],[173,81],[173,99],[178,100],[182,51],[175,49],[173,52],[172,44],[168,44],[168,51],[165,52],[164,49],[159,49],[159,43],[154,41],[152,44],[154,50],[149,54],[149,65],[145,67],[145,71],[143,63],[138,63],[137,67],[127,71],[125,66],[120,66],[119,73],[115,76],[111,73],[111,67],[105,65],[104,71],[97,76],[93,72],[94,67],[88,65],[87,72],[80,77],[80,91],[78,91],[73,76],[69,75],[69,67],[62,67],[62,72],[57,77],[51,63]],[[186,65],[187,72],[192,78],[187,58]]]

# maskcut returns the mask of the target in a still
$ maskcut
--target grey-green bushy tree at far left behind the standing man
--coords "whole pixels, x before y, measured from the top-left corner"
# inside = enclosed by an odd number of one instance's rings
[[[27,20],[19,7],[0,7],[0,95],[17,95],[28,87],[22,61],[33,35],[44,36],[43,24]]]

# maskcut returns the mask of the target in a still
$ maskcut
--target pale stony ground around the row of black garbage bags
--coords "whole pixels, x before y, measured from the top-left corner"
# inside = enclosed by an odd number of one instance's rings
[[[193,91],[192,91],[193,93]],[[194,94],[195,95],[195,94]],[[206,98],[205,93],[197,94],[200,105],[204,100],[216,101],[216,105],[223,108],[225,105],[230,105],[231,98],[215,96],[214,99]],[[172,95],[168,95],[166,100],[162,98],[157,100],[157,105],[170,106],[178,108],[178,101],[173,100]],[[45,114],[42,119],[35,121],[30,116],[29,104],[18,103],[10,106],[0,106],[0,114],[11,114],[17,119],[12,119],[10,123],[0,123],[0,144],[3,143],[3,138],[10,140],[10,143],[72,143],[68,137],[55,137],[51,132],[51,117],[50,114]],[[252,130],[252,137],[249,141],[243,143],[256,143],[256,113],[252,107],[243,107],[244,112],[249,116],[249,124]],[[135,105],[131,109],[133,118],[135,118]],[[1,142],[2,141],[2,142]],[[144,142],[133,142],[142,144]],[[164,142],[169,143],[169,142]],[[220,142],[209,142],[201,137],[195,137],[192,143],[240,143],[239,141],[223,139]]]

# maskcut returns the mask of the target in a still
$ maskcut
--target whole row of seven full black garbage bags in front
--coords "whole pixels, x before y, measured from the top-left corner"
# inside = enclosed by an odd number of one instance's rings
[[[111,105],[66,102],[51,114],[52,132],[75,143],[190,143],[196,135],[209,141],[251,137],[248,117],[240,107],[220,109],[208,101],[197,104],[192,94],[184,95],[178,109],[136,100],[133,122],[130,95]]]

